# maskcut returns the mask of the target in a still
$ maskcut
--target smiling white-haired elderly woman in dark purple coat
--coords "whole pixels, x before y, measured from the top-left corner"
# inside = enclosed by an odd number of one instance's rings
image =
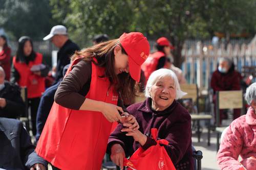
[[[125,156],[132,156],[140,147],[147,150],[156,145],[151,129],[157,128],[157,140],[166,139],[169,142],[164,148],[175,167],[194,169],[191,117],[176,101],[184,94],[172,70],[161,68],[154,71],[146,84],[147,99],[127,107],[127,111],[136,117],[140,128],[133,130],[126,128],[128,124],[119,124],[110,135],[107,153],[112,161],[122,168]]]

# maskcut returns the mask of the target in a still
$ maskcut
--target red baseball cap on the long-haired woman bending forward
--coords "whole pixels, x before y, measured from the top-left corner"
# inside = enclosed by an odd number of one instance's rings
[[[139,32],[123,33],[119,40],[128,55],[130,75],[135,81],[139,82],[140,66],[150,54],[150,43]]]

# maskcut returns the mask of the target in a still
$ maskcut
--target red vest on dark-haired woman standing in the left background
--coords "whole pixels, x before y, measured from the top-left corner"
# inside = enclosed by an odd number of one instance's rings
[[[35,60],[29,61],[29,64],[26,62],[20,63],[20,61],[16,62],[16,56],[14,56],[12,60],[15,69],[19,73],[18,85],[21,87],[27,86],[28,88],[28,99],[39,98],[46,88],[45,78],[34,75],[33,71],[30,70],[33,65],[42,63],[42,54],[35,54]]]

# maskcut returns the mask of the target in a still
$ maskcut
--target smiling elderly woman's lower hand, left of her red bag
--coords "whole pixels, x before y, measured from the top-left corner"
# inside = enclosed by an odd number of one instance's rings
[[[123,158],[125,158],[125,153],[120,144],[113,144],[111,147],[111,160],[123,169]]]

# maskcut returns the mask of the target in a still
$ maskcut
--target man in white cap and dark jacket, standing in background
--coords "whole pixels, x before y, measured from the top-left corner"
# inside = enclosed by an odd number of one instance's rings
[[[56,47],[59,48],[57,54],[56,77],[52,85],[56,84],[62,78],[62,70],[65,65],[70,64],[70,56],[79,50],[77,44],[69,39],[67,28],[57,25],[51,29],[49,35],[43,40],[50,40]]]

